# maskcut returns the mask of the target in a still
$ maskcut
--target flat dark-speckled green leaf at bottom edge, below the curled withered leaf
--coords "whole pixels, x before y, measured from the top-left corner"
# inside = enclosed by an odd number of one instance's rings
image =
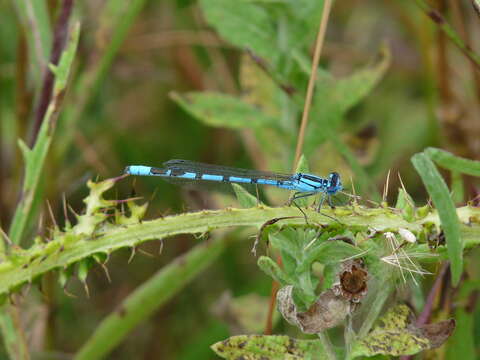
[[[224,359],[301,360],[325,359],[318,340],[297,340],[281,335],[239,335],[212,345]]]

